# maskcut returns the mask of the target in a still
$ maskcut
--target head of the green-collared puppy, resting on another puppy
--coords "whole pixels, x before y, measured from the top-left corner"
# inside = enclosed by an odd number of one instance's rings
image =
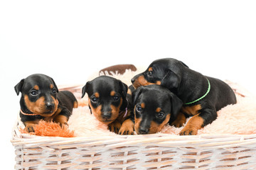
[[[155,60],[145,72],[132,78],[132,85],[138,88],[149,84],[161,84],[168,89],[176,89],[181,83],[184,67],[188,68],[183,62],[171,58]]]

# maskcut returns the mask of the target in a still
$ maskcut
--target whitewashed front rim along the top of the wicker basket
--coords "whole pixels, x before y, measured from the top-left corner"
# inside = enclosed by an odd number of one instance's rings
[[[116,135],[116,136],[87,136],[87,137],[42,137],[36,135],[22,134],[20,137],[14,135],[11,139],[12,145],[52,146],[52,145],[107,145],[105,147],[124,147],[140,145],[200,145],[201,147],[238,147],[239,145],[256,144],[256,134],[252,135],[191,135],[179,136],[163,133],[149,135]]]

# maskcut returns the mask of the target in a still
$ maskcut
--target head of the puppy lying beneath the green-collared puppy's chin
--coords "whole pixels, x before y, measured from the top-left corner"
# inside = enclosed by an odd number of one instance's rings
[[[172,116],[176,117],[182,106],[176,95],[159,85],[140,86],[132,96],[137,134],[161,131]]]

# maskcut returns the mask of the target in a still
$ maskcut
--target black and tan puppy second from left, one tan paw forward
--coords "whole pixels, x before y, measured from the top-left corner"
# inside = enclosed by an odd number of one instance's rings
[[[134,123],[129,119],[132,96],[128,86],[113,77],[101,76],[87,81],[82,87],[82,97],[88,94],[90,111],[97,120],[108,125],[110,131],[132,135]],[[125,128],[121,128],[121,125]]]

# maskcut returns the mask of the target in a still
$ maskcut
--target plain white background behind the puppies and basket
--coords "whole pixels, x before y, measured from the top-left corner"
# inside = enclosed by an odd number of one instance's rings
[[[14,169],[14,86],[43,73],[85,84],[113,64],[174,57],[256,94],[254,1],[0,1],[1,167]]]

